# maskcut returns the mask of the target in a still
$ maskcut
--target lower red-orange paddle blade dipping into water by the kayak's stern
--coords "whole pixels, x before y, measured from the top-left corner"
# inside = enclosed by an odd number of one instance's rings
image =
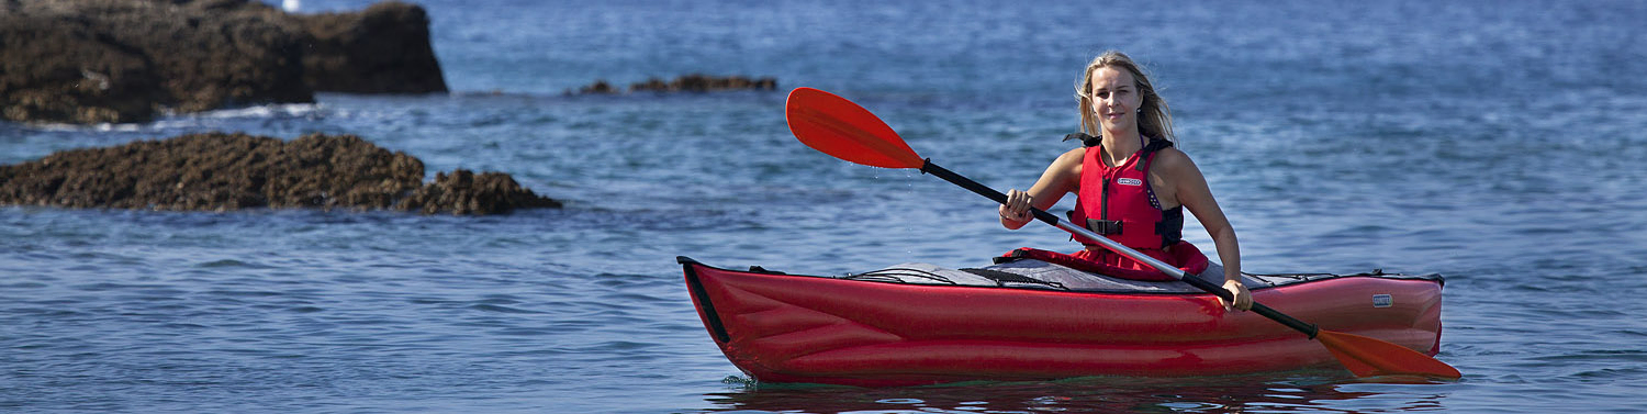
[[[1316,340],[1355,376],[1411,374],[1441,379],[1464,376],[1451,365],[1388,341],[1329,330],[1318,332]]]

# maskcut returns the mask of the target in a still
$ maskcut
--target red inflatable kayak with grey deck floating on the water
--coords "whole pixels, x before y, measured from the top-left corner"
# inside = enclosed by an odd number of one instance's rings
[[[677,257],[710,336],[764,383],[1212,376],[1339,366],[1306,335],[1225,312],[1184,282],[1024,259],[842,275],[731,271]],[[1222,269],[1211,277],[1222,280]],[[1439,351],[1439,275],[1248,275],[1253,299],[1323,330]]]

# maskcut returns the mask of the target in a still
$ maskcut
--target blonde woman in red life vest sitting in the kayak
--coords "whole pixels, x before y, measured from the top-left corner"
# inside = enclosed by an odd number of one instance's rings
[[[1071,219],[1127,247],[1173,266],[1206,257],[1181,239],[1183,209],[1196,214],[1212,236],[1224,262],[1224,289],[1235,300],[1225,308],[1252,308],[1252,292],[1240,284],[1240,246],[1219,209],[1207,178],[1189,155],[1173,148],[1173,115],[1150,78],[1127,54],[1107,51],[1087,64],[1080,84],[1080,137],[1085,143],[1059,155],[1029,191],[1006,191],[1001,226],[1019,229],[1033,216],[1075,193]],[[1067,139],[1066,139],[1067,140]],[[1075,257],[1125,269],[1150,269],[1131,257],[1087,244]]]

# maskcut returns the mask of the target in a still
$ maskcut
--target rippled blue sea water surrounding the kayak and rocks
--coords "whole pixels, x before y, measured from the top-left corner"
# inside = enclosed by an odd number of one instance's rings
[[[1642,2],[420,3],[450,94],[0,124],[0,163],[356,134],[567,208],[0,208],[0,412],[1647,412]],[[840,389],[753,384],[720,355],[675,256],[845,274],[1075,249],[940,180],[797,143],[791,87],[1026,188],[1071,148],[1074,82],[1105,49],[1151,71],[1247,271],[1443,274],[1438,358],[1464,378]],[[688,73],[781,91],[565,94]],[[1197,223],[1184,234],[1212,254]]]

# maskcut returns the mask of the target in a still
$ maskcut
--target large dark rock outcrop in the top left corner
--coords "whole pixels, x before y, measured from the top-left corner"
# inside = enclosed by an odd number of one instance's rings
[[[143,122],[315,91],[445,92],[422,7],[288,15],[257,0],[0,2],[0,119]]]

